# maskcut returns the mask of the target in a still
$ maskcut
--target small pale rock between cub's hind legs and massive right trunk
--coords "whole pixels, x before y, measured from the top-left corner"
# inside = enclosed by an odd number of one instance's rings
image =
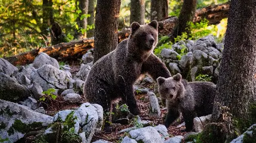
[[[195,132],[202,132],[204,126],[208,123],[210,119],[211,115],[195,117],[193,119],[193,128],[195,129]]]

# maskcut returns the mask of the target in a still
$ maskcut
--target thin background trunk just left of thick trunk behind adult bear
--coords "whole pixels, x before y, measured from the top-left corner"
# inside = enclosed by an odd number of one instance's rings
[[[90,14],[90,17],[87,18],[88,26],[93,26],[95,17],[94,17],[94,1],[95,0],[89,0],[88,4],[88,14]],[[93,37],[94,36],[94,28],[89,29],[87,32],[87,37]]]

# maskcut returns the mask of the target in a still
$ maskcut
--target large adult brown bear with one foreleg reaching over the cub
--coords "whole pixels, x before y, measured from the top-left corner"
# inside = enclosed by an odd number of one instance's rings
[[[154,55],[158,42],[158,23],[131,24],[128,39],[119,43],[115,50],[95,62],[85,81],[83,93],[90,103],[100,104],[104,112],[118,98],[126,103],[133,115],[140,113],[133,91],[133,84],[141,74],[171,77],[163,62]]]

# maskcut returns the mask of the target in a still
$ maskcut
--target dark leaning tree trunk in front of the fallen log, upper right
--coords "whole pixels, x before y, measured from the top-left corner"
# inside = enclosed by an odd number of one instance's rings
[[[177,26],[173,31],[171,40],[175,37],[182,35],[183,32],[189,34],[188,22],[193,20],[196,9],[196,0],[184,0],[182,10],[180,11],[179,20]]]

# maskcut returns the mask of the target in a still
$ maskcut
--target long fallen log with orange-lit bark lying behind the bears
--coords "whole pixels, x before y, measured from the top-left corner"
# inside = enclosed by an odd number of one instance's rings
[[[208,6],[202,9],[197,9],[193,22],[199,22],[204,18],[209,20],[209,24],[220,23],[220,20],[227,18],[229,11],[229,2],[220,5]],[[168,17],[164,21],[159,22],[159,33],[161,35],[167,35],[172,33],[174,27],[177,24],[177,17]],[[126,39],[130,34],[129,29],[123,29],[118,32],[118,42]],[[49,47],[42,47],[40,49],[34,49],[30,52],[21,53],[20,55],[11,56],[4,58],[13,65],[26,65],[32,63],[36,56],[40,52],[45,52],[52,58],[57,59],[58,61],[67,61],[80,59],[87,50],[93,48],[93,38],[74,40],[68,43],[60,43],[58,45],[53,45]]]

